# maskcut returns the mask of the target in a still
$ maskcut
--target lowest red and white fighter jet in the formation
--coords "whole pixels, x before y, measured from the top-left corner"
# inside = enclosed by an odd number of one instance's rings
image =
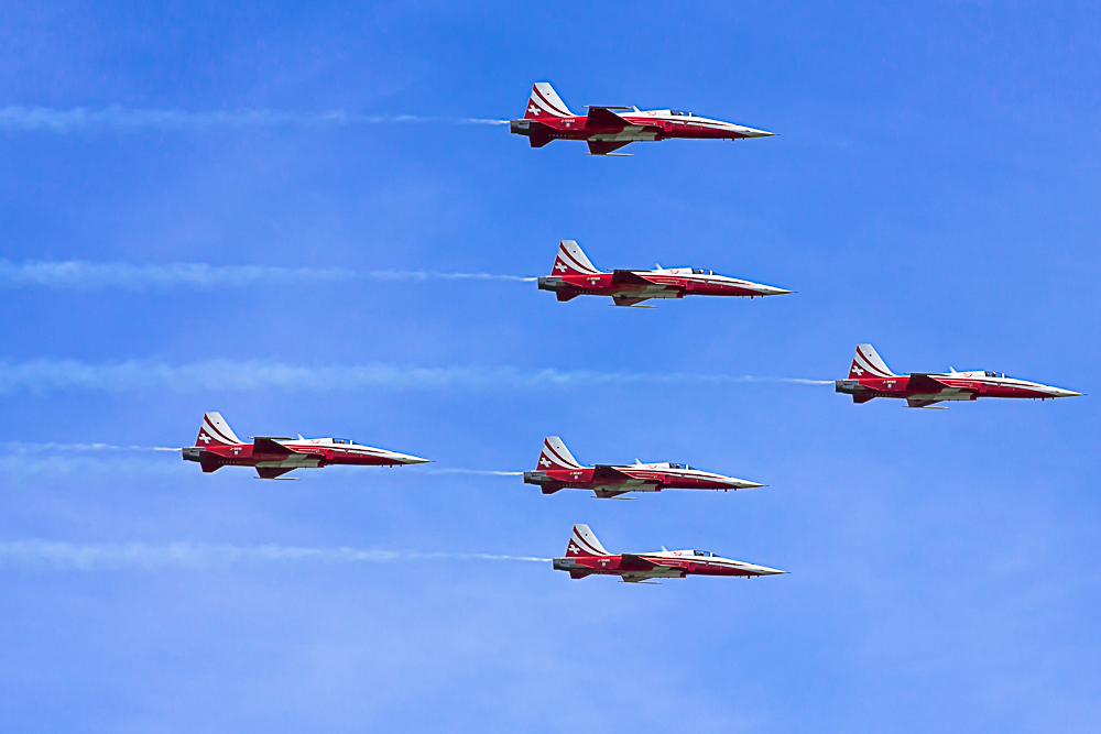
[[[721,558],[709,550],[666,550],[648,554],[610,554],[597,540],[588,525],[575,525],[565,558],[555,558],[556,571],[569,571],[569,578],[584,579],[590,573],[618,576],[637,583],[650,579],[683,579],[686,576],[776,576],[774,568]]]

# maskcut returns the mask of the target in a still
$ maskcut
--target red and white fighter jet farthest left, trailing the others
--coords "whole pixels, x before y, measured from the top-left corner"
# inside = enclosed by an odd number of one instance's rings
[[[427,463],[428,459],[372,449],[348,438],[255,436],[251,443],[246,443],[220,413],[207,413],[195,446],[184,449],[184,461],[199,462],[207,473],[222,467],[255,467],[260,479],[277,479],[295,469],[330,464],[394,467]]]

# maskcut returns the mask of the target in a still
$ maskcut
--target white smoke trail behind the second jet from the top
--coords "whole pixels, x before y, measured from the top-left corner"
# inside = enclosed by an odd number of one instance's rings
[[[91,263],[73,261],[30,261],[13,263],[0,260],[0,287],[44,286],[52,288],[220,288],[250,285],[302,285],[352,281],[513,281],[532,283],[537,277],[493,273],[438,273],[433,271],[274,267],[266,265],[209,265],[207,263]]]

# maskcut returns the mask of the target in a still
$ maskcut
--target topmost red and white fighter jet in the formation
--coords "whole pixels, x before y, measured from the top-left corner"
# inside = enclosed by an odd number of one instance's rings
[[[773,133],[745,125],[709,120],[682,110],[640,110],[637,107],[587,105],[588,113],[577,116],[562,101],[546,81],[532,87],[523,120],[512,120],[511,130],[525,135],[532,147],[543,147],[552,140],[584,140],[589,155],[630,155],[613,153],[624,145],[669,138],[742,140],[768,138]]]

